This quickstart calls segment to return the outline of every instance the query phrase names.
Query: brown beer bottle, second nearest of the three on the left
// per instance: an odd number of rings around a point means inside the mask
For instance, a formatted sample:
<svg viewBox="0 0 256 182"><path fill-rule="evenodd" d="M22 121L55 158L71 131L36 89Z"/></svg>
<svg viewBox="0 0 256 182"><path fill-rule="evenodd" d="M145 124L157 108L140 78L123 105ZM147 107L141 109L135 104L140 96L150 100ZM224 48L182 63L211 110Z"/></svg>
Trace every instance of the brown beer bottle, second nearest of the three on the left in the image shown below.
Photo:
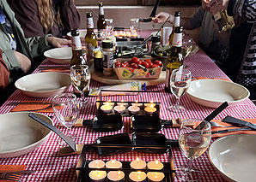
<svg viewBox="0 0 256 182"><path fill-rule="evenodd" d="M94 33L94 20L91 12L86 14L87 17L87 33L85 36L85 46L88 59L93 57L93 50L98 46L97 38Z"/></svg>

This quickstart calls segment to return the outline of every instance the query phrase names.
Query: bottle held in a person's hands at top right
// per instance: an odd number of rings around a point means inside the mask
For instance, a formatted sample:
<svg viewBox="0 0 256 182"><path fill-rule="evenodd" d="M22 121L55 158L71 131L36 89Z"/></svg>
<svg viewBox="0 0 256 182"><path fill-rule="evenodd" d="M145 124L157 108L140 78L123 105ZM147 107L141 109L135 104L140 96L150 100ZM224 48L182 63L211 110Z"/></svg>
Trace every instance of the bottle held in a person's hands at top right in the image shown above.
<svg viewBox="0 0 256 182"><path fill-rule="evenodd" d="M232 16L229 16L227 10L220 10L213 15L214 21L218 26L218 32L230 30L235 26L235 21Z"/></svg>

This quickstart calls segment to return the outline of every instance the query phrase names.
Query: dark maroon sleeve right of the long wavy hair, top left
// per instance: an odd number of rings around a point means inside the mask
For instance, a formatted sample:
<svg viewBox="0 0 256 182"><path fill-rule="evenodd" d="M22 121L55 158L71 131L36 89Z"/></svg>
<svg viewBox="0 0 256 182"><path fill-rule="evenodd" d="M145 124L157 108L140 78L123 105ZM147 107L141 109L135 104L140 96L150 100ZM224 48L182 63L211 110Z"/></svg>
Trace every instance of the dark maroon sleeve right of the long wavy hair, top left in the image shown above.
<svg viewBox="0 0 256 182"><path fill-rule="evenodd" d="M64 35L72 29L80 27L80 14L74 0L60 0L59 14L64 26Z"/></svg>

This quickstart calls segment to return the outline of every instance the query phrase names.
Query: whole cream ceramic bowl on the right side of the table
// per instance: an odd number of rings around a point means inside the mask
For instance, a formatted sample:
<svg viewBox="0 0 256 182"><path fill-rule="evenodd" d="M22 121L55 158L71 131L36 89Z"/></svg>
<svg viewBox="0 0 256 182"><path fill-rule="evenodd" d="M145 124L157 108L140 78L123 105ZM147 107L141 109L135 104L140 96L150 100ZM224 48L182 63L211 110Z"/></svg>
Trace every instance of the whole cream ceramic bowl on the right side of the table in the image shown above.
<svg viewBox="0 0 256 182"><path fill-rule="evenodd" d="M193 102L210 108L217 108L225 101L235 106L250 96L244 86L219 79L194 80L186 93Z"/></svg>

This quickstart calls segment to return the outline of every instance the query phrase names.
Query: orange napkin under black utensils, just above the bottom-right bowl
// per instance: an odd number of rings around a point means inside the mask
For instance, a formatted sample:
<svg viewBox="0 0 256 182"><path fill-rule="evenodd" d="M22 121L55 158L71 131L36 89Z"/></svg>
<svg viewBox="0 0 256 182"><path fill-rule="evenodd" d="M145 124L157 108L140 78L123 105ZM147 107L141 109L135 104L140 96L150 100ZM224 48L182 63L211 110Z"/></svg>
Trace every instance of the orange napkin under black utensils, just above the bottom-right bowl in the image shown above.
<svg viewBox="0 0 256 182"><path fill-rule="evenodd" d="M253 123L253 124L256 124L256 119L241 119L241 120L246 120L250 123ZM216 122L218 123L219 125L221 126L234 126L234 125L231 125L229 123L226 123L226 122L222 122L222 120L211 120L213 122ZM193 126L194 128L196 126L198 126L199 123L195 123L195 125ZM241 126L234 126L234 127L218 127L218 126L213 126L211 127L211 131L221 131L221 130L227 130L227 129L235 129L235 128L240 128ZM256 130L253 131L253 130L244 130L244 131L236 131L236 132L225 132L225 133L216 133L216 134L212 134L211 135L211 138L219 138L219 137L224 137L224 136L227 136L227 135L233 135L233 134L254 134L256 135Z"/></svg>

